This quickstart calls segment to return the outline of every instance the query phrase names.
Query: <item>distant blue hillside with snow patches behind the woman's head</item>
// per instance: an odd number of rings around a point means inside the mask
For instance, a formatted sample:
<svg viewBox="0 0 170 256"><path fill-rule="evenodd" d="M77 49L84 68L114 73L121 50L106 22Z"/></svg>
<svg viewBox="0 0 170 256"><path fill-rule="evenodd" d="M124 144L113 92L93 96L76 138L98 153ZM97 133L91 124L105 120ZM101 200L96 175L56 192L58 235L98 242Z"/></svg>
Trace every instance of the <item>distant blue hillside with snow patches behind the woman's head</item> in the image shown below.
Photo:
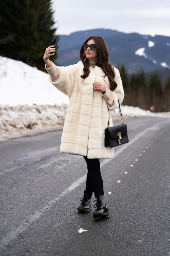
<svg viewBox="0 0 170 256"><path fill-rule="evenodd" d="M110 62L115 66L124 63L129 74L141 68L144 72L170 70L170 36L126 34L111 29L91 29L61 35L57 63L64 66L77 63L79 49L90 35L102 36L108 45Z"/></svg>

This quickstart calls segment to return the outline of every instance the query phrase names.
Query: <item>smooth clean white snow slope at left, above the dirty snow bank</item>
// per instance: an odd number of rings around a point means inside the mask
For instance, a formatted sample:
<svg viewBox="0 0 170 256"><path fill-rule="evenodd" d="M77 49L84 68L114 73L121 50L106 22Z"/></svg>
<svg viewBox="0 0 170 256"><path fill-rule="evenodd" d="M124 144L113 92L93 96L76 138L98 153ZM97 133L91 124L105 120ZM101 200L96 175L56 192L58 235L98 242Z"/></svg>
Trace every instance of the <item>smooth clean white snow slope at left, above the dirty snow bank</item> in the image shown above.
<svg viewBox="0 0 170 256"><path fill-rule="evenodd" d="M48 74L22 61L0 56L0 105L68 102L68 97L49 82Z"/></svg>

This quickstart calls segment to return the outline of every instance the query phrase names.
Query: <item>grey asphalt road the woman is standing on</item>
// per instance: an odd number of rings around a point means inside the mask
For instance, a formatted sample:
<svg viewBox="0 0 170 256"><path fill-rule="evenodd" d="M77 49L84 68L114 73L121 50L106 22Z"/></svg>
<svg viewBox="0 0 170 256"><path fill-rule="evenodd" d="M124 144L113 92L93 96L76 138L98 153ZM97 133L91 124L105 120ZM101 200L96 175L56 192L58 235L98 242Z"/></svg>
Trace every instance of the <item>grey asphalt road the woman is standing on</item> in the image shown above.
<svg viewBox="0 0 170 256"><path fill-rule="evenodd" d="M170 119L125 121L130 142L100 161L102 219L76 210L86 164L61 130L0 143L0 256L170 255Z"/></svg>

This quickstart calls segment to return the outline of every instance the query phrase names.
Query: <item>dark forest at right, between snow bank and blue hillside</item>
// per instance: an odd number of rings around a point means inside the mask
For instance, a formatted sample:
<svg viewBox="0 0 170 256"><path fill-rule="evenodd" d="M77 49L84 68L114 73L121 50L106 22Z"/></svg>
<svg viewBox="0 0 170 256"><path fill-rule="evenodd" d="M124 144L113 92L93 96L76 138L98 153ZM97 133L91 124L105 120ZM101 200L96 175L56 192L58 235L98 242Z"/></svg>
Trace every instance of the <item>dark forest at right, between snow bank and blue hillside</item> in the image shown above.
<svg viewBox="0 0 170 256"><path fill-rule="evenodd" d="M119 71L125 92L124 105L152 112L170 111L170 76L163 87L157 71L150 73L148 81L143 70L128 76L122 64Z"/></svg>

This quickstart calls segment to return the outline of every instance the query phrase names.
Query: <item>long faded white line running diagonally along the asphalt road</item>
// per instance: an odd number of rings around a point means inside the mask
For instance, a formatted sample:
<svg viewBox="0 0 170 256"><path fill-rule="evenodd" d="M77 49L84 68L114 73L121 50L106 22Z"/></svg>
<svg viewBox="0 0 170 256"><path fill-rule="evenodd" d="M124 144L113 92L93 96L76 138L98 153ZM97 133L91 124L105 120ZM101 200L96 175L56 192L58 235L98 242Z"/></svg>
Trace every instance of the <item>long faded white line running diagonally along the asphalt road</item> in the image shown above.
<svg viewBox="0 0 170 256"><path fill-rule="evenodd" d="M122 145L119 147L119 150L117 150L114 154L114 158L117 157L119 154L121 154L126 148L128 148L130 145L132 145L135 141L139 140L140 137L143 137L144 134L150 130L155 130L159 124L156 124L154 126L151 126L147 128L146 130L140 132L137 134L133 139L131 139L128 143ZM104 161L100 164L101 167L103 167L105 164L110 162L112 158L104 159ZM130 165L133 166L133 165ZM47 210L51 209L53 204L55 204L62 196L66 195L73 189L75 189L77 186L82 184L86 180L86 175L83 175L80 177L77 181L75 181L71 186L69 186L67 189L65 189L58 197L51 200L48 204L46 204L40 211L36 211L33 215L31 215L29 218L27 218L20 226L13 228L7 235L1 238L0 240L0 248L3 248L8 245L8 243L17 238L19 234L22 234L30 225L31 223L38 220Z"/></svg>

